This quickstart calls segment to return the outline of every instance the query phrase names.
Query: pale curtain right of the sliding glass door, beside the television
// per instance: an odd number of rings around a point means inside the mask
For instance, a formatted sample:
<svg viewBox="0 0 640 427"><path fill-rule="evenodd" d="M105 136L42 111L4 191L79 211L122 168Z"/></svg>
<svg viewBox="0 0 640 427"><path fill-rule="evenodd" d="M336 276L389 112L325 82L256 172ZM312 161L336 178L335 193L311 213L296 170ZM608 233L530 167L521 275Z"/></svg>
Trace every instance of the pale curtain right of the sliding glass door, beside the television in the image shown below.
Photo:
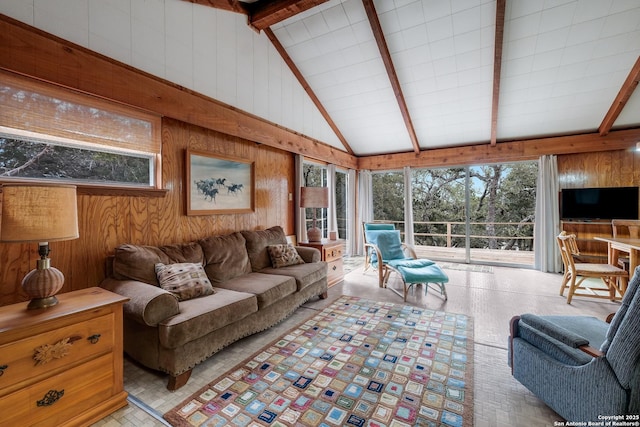
<svg viewBox="0 0 640 427"><path fill-rule="evenodd" d="M558 162L556 156L542 156L538 161L536 220L533 228L534 267L549 273L562 271L556 236L560 233L558 204Z"/></svg>

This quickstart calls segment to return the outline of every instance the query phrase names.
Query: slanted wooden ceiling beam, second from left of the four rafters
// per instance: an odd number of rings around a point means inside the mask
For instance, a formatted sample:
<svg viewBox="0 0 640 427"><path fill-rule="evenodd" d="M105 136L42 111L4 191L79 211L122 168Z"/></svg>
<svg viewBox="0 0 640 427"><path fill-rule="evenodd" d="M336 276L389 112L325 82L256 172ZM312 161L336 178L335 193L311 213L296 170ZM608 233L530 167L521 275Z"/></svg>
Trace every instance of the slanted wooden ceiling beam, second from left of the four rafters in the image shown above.
<svg viewBox="0 0 640 427"><path fill-rule="evenodd" d="M367 12L369 24L371 25L371 30L373 31L373 36L375 37L376 43L378 44L380 56L382 56L382 61L384 62L384 66L387 69L387 74L389 75L389 80L391 81L393 93L395 94L396 100L398 101L398 106L400 107L402 118L404 120L405 126L407 127L409 138L411 138L413 151L419 153L420 144L418 143L418 136L416 135L416 131L413 127L413 122L411 121L411 115L409 114L407 102L405 101L404 95L402 94L400 80L398 80L396 69L393 66L393 61L391 60L391 54L389 53L389 47L387 46L387 41L385 40L384 33L382 32L382 26L380 25L380 20L378 19L378 13L376 12L376 8L373 5L373 0L362 0L362 4L364 5L364 9Z"/></svg>

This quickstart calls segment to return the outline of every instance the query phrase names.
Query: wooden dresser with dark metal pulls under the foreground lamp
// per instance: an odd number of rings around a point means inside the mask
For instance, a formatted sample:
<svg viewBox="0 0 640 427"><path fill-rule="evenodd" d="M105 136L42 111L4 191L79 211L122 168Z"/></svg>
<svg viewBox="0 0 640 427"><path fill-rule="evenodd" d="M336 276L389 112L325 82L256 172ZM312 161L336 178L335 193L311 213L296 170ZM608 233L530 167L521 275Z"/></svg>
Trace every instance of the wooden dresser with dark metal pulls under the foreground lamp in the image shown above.
<svg viewBox="0 0 640 427"><path fill-rule="evenodd" d="M127 405L120 295L88 288L58 305L0 307L0 424L86 426Z"/></svg>

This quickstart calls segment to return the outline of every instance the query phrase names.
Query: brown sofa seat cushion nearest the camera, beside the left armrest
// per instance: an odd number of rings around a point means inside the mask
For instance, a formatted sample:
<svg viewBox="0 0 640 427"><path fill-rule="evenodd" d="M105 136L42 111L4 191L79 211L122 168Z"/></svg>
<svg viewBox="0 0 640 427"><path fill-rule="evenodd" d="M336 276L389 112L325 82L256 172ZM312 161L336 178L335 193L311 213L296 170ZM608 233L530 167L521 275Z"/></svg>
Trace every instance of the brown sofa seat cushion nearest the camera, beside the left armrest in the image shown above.
<svg viewBox="0 0 640 427"><path fill-rule="evenodd" d="M254 294L214 288L215 294L180 302L180 313L160 322L166 348L178 348L258 311Z"/></svg>

